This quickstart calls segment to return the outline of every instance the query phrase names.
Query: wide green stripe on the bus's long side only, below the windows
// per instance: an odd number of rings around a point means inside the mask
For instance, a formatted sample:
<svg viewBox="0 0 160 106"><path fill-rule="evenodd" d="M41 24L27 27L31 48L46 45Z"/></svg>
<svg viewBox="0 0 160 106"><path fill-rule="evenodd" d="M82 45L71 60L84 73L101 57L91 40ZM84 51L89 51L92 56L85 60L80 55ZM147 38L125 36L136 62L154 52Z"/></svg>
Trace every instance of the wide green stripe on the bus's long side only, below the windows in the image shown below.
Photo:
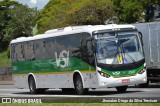
<svg viewBox="0 0 160 106"><path fill-rule="evenodd" d="M60 63L63 65L63 62ZM69 58L68 66L57 66L56 59L32 60L13 62L13 74L46 73L46 72L73 72L75 70L95 72L95 68L81 59Z"/></svg>

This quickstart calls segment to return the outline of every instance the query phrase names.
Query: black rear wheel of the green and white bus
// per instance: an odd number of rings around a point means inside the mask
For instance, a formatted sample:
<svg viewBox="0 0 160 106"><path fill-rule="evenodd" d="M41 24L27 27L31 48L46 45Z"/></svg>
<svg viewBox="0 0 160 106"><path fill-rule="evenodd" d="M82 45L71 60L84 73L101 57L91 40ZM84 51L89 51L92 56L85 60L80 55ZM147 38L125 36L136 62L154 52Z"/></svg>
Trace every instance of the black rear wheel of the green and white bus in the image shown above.
<svg viewBox="0 0 160 106"><path fill-rule="evenodd" d="M30 93L37 94L36 83L33 76L29 77L28 84L29 84Z"/></svg>

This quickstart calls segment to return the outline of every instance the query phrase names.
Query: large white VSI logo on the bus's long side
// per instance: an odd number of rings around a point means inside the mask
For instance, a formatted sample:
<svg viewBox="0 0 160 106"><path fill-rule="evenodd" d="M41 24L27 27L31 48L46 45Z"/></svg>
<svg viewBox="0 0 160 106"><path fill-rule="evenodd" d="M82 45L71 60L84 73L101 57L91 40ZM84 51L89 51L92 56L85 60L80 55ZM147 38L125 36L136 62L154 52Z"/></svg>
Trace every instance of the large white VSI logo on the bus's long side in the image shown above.
<svg viewBox="0 0 160 106"><path fill-rule="evenodd" d="M59 57L57 52L55 52L57 67L65 68L68 66L69 62L69 51L63 50L60 52Z"/></svg>

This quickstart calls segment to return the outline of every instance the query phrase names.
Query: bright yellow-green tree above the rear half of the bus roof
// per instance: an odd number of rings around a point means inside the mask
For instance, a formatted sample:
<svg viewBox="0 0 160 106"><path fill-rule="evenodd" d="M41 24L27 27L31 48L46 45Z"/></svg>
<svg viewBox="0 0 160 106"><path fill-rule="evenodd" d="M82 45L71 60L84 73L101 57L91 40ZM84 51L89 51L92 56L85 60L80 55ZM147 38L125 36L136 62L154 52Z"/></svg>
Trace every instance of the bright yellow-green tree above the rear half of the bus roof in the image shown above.
<svg viewBox="0 0 160 106"><path fill-rule="evenodd" d="M48 29L66 26L64 20L66 11L74 0L50 0L45 8L38 13L38 32L44 33Z"/></svg>

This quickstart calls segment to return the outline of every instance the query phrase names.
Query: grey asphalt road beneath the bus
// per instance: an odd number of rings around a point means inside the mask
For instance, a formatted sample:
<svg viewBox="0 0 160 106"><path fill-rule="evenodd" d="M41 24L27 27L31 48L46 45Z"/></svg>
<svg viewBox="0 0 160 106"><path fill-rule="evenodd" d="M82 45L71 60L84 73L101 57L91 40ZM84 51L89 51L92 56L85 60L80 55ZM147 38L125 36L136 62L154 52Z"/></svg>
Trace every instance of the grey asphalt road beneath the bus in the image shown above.
<svg viewBox="0 0 160 106"><path fill-rule="evenodd" d="M121 98L160 98L160 84L151 84L148 88L130 86L125 93L115 88L90 89L86 95L63 94L60 89L49 89L44 94L31 95L29 89L17 89L14 85L0 85L0 97L121 97Z"/></svg>

